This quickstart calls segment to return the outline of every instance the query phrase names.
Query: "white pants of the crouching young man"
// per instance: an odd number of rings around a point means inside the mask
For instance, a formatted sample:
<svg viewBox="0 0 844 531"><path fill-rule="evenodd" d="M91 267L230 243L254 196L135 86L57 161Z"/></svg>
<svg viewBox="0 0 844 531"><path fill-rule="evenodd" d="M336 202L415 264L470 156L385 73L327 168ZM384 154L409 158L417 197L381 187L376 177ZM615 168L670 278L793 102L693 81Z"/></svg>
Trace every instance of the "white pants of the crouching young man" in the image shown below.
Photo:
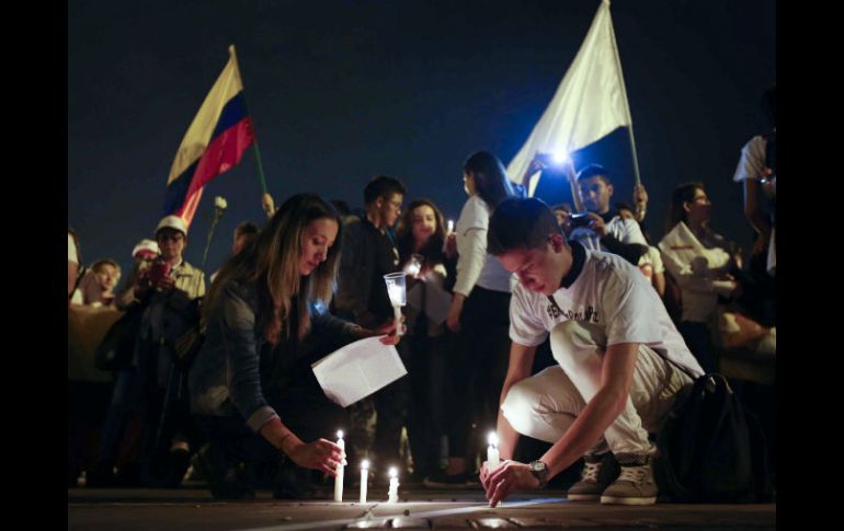
<svg viewBox="0 0 844 531"><path fill-rule="evenodd" d="M567 321L551 331L550 338L559 366L513 385L501 411L520 434L554 443L601 388L606 336L594 325ZM588 453L655 453L648 434L659 430L677 393L689 385L688 374L640 345L625 409Z"/></svg>

